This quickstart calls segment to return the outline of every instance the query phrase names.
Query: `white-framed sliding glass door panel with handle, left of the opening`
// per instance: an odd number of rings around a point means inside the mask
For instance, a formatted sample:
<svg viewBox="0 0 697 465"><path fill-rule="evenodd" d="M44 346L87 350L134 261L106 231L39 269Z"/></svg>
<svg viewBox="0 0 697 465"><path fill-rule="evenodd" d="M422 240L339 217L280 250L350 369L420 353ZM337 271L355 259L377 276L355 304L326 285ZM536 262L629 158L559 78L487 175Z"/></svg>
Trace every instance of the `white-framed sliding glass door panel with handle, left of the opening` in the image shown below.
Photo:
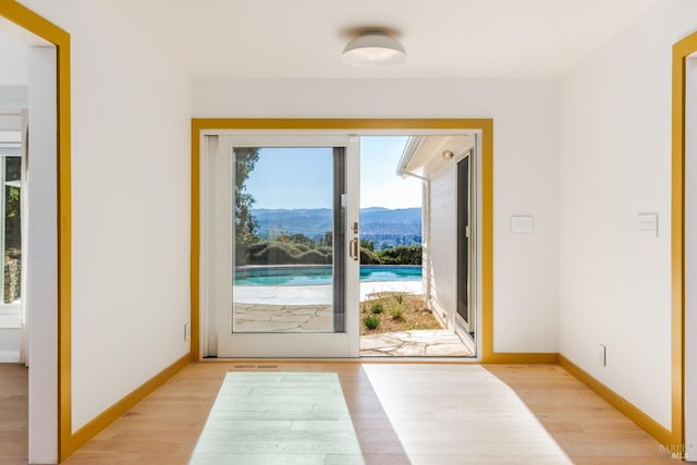
<svg viewBox="0 0 697 465"><path fill-rule="evenodd" d="M357 150L346 136L209 137L209 355L358 356Z"/></svg>

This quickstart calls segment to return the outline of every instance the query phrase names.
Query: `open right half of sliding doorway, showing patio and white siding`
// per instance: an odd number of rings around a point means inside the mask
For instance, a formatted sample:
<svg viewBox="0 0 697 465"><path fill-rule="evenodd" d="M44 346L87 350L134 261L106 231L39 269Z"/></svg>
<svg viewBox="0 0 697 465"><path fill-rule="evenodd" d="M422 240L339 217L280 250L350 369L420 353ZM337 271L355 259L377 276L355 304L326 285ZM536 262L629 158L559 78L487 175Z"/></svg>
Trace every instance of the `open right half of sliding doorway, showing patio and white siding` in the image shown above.
<svg viewBox="0 0 697 465"><path fill-rule="evenodd" d="M438 280L431 257L440 248L435 243L452 241L442 236L460 234L455 220L440 212L470 211L469 199L461 198L458 187L467 180L460 174L452 176L455 164L433 164L441 157L433 151L436 145L454 140L457 138L445 136L360 137L362 277L376 274L372 282L362 279L360 284L362 356L475 354L474 331L465 343L463 331L455 325L458 308L452 304L458 301L461 291L468 292L468 268L461 267L460 261L463 257L467 260L470 254L451 254L450 269L456 272L451 271L449 278L440 269L445 264L439 262ZM452 148L463 149L454 145ZM453 192L456 195L449 196ZM438 204L436 208L433 201ZM432 234L436 236L430 237ZM460 254L464 247L457 246L458 238L455 244ZM376 268L378 271L374 272ZM461 284L463 276L465 282ZM456 279L457 286L451 286L445 279ZM453 291L456 296L449 295Z"/></svg>

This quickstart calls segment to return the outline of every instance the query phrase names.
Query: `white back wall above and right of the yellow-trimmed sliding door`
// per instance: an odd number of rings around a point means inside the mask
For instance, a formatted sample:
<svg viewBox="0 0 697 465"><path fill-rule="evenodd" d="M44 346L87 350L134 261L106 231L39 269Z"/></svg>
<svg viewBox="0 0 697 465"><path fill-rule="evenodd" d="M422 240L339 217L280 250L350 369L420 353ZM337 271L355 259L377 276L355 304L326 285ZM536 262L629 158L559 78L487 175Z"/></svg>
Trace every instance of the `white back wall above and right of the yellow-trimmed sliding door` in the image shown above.
<svg viewBox="0 0 697 465"><path fill-rule="evenodd" d="M494 350L557 352L555 81L196 78L193 93L200 118L493 118ZM508 231L521 211L526 241Z"/></svg>

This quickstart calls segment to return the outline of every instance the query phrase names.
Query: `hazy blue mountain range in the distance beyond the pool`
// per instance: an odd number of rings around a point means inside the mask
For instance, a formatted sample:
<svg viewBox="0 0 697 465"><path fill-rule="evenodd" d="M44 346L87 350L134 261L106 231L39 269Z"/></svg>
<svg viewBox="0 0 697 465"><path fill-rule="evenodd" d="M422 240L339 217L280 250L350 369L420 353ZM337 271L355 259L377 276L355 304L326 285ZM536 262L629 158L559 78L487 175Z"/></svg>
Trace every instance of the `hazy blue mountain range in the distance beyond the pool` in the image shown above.
<svg viewBox="0 0 697 465"><path fill-rule="evenodd" d="M331 231L331 210L316 209L252 209L257 234L262 237L284 232L321 237ZM381 207L360 209L360 238L372 241L376 249L395 245L421 243L421 209Z"/></svg>

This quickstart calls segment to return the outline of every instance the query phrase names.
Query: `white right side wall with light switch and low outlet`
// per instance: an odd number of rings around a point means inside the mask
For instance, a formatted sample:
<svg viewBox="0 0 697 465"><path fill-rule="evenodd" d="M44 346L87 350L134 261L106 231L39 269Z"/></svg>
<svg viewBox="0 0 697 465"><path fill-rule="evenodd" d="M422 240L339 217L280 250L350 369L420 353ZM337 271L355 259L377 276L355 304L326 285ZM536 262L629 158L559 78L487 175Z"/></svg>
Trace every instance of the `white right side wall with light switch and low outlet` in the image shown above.
<svg viewBox="0 0 697 465"><path fill-rule="evenodd" d="M697 2L661 0L561 89L561 353L667 428L671 47L695 28ZM658 213L658 237L637 233L643 211Z"/></svg>

